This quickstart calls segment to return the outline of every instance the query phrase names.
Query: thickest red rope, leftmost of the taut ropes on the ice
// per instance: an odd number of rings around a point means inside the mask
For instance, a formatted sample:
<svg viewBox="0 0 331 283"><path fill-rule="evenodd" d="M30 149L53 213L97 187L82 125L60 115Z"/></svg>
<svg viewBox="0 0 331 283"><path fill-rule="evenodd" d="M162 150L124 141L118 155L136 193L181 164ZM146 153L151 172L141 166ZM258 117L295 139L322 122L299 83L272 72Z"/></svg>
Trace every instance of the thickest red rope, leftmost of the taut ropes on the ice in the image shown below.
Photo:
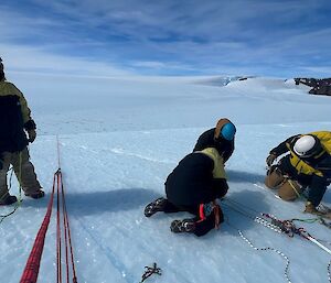
<svg viewBox="0 0 331 283"><path fill-rule="evenodd" d="M35 283L38 279L41 257L44 249L45 236L47 232L51 215L52 215L52 207L53 207L53 198L54 198L54 189L55 189L55 175L53 181L53 189L51 199L47 206L47 213L44 217L44 220L40 227L40 230L35 237L34 244L32 247L31 253L25 264L25 269L23 271L22 277L20 283Z"/></svg>

